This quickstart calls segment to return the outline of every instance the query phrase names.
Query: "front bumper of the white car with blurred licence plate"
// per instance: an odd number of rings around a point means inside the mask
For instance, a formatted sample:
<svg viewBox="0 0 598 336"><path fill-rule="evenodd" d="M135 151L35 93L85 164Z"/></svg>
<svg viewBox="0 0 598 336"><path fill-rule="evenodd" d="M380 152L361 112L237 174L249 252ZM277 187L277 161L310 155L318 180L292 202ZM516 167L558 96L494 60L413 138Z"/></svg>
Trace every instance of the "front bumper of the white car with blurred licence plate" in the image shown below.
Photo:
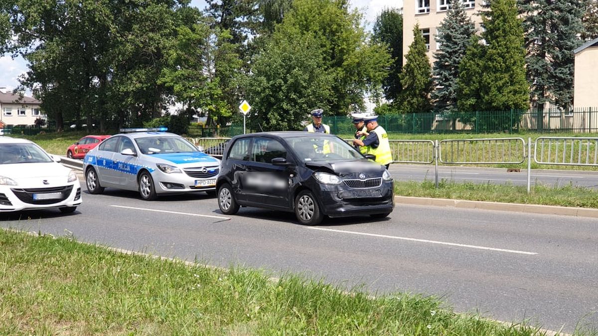
<svg viewBox="0 0 598 336"><path fill-rule="evenodd" d="M0 186L0 212L56 209L79 206L81 203L81 185L78 181L47 188Z"/></svg>

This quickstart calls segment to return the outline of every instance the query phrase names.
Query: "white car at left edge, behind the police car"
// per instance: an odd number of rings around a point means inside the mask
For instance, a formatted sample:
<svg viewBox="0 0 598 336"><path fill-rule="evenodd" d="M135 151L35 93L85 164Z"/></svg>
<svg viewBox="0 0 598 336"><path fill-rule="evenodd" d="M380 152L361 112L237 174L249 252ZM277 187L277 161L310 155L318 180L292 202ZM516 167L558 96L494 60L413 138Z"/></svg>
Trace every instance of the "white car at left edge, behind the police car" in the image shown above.
<svg viewBox="0 0 598 336"><path fill-rule="evenodd" d="M0 136L0 212L74 212L81 205L81 185L75 171L59 161L29 140Z"/></svg>

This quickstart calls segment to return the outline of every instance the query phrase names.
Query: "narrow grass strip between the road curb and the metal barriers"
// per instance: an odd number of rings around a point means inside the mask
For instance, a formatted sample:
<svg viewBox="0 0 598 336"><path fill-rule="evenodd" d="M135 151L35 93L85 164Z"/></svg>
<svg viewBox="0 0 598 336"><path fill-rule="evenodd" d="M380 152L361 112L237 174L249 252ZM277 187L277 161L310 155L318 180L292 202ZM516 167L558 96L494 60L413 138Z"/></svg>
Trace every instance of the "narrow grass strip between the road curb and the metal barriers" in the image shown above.
<svg viewBox="0 0 598 336"><path fill-rule="evenodd" d="M450 198L455 200L495 201L504 203L542 204L554 206L588 207L598 209L596 190L575 185L532 185L457 183L442 179L435 188L434 181L395 181L395 195L410 197Z"/></svg>

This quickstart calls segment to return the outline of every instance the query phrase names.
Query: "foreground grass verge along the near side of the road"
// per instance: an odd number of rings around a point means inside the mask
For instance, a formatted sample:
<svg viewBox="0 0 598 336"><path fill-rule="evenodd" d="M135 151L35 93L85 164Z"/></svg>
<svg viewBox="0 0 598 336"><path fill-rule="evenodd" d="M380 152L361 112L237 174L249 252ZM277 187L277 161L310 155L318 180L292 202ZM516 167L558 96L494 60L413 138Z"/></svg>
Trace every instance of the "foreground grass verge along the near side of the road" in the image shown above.
<svg viewBox="0 0 598 336"><path fill-rule="evenodd" d="M434 297L372 298L322 280L270 276L0 230L0 334L545 334L457 314Z"/></svg>

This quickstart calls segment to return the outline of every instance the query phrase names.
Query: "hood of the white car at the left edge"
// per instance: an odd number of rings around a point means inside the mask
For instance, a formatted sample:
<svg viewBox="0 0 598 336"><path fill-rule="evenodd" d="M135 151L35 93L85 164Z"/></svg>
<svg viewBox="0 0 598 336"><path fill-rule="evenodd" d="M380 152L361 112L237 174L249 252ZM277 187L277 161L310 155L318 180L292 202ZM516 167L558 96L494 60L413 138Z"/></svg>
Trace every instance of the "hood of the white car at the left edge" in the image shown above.
<svg viewBox="0 0 598 336"><path fill-rule="evenodd" d="M13 179L21 188L50 188L68 184L71 169L56 162L0 165L0 176ZM47 184L44 184L43 181Z"/></svg>

